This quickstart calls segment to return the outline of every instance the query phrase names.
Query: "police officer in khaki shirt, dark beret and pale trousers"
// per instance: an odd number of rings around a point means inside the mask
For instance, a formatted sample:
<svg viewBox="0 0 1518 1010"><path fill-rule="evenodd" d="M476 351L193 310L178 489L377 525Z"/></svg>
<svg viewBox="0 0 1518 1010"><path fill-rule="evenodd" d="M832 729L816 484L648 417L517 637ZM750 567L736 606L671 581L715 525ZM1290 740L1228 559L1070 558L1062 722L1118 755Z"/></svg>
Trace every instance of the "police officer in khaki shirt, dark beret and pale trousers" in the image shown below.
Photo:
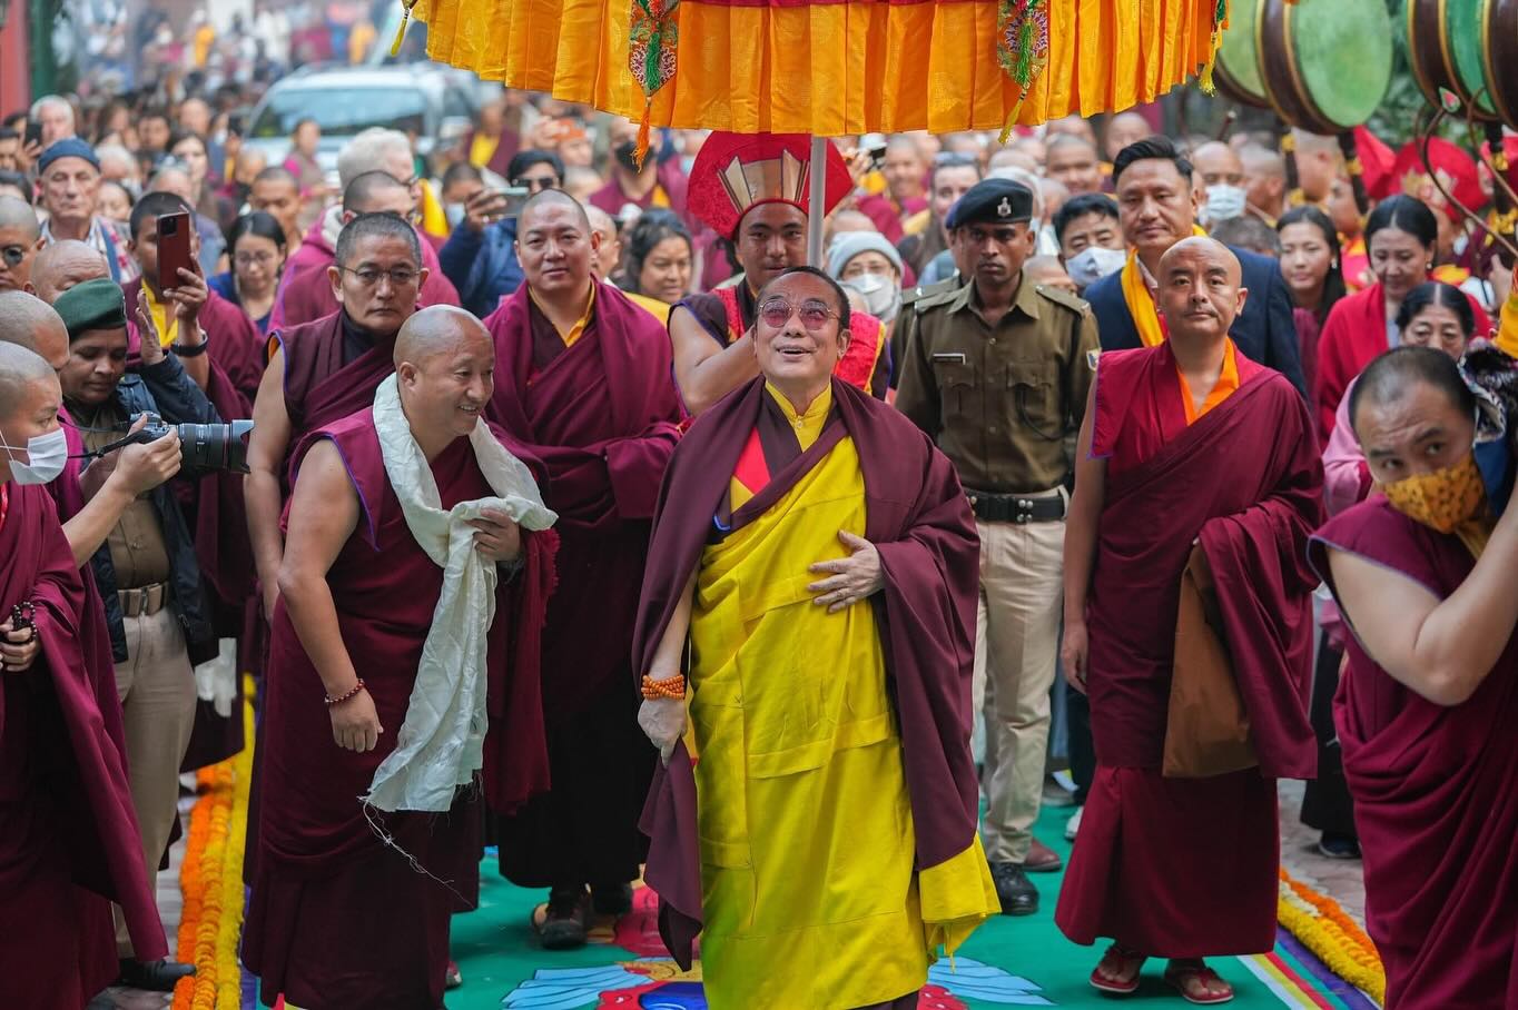
<svg viewBox="0 0 1518 1010"><path fill-rule="evenodd" d="M903 312L896 406L959 470L981 534L976 702L990 688L982 837L1006 914L1038 910L1025 870L1060 869L1032 837L1043 795L1060 645L1067 437L1096 376L1085 302L1023 276L1032 193L987 179L949 215L968 282Z"/></svg>

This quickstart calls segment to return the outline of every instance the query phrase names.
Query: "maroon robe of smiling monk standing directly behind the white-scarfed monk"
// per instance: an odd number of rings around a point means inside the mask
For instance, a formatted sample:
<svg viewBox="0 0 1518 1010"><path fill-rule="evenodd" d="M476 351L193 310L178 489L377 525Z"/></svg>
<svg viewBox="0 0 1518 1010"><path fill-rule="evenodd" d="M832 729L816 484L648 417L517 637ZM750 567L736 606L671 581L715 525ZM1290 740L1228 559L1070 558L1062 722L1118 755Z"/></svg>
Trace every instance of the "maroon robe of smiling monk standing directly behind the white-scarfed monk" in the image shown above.
<svg viewBox="0 0 1518 1010"><path fill-rule="evenodd" d="M527 285L486 326L496 355L492 420L542 460L543 499L559 513L543 702L548 717L560 722L604 698L627 669L648 523L680 417L669 335L606 284L571 347L533 305Z"/></svg>

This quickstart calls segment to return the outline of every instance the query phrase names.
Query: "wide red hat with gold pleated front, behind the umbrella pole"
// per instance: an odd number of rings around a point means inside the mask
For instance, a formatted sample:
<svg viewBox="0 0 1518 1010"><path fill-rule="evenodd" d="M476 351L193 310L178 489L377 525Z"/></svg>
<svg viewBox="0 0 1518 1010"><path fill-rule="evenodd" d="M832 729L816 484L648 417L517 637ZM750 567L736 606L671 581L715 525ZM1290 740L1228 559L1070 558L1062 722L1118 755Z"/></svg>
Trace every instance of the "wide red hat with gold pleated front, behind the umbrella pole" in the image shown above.
<svg viewBox="0 0 1518 1010"><path fill-rule="evenodd" d="M789 203L808 211L812 193L812 138L808 133L726 133L706 138L695 164L686 206L723 238L732 240L744 214L761 203ZM849 165L827 143L826 209L853 188Z"/></svg>

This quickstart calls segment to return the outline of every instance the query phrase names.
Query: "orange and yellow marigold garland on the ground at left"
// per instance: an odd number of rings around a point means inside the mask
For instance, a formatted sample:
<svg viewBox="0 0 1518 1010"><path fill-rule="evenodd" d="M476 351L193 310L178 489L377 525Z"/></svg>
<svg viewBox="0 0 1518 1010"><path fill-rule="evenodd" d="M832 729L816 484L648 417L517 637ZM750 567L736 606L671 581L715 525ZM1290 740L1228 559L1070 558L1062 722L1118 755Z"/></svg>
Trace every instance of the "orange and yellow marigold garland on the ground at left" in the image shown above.
<svg viewBox="0 0 1518 1010"><path fill-rule="evenodd" d="M252 698L254 687L244 695ZM175 989L173 1010L235 1010L241 1005L237 945L243 933L243 848L247 792L254 772L254 708L243 707L241 754L200 769L200 798L190 811L185 858L179 869L184 910L176 957L196 974Z"/></svg>

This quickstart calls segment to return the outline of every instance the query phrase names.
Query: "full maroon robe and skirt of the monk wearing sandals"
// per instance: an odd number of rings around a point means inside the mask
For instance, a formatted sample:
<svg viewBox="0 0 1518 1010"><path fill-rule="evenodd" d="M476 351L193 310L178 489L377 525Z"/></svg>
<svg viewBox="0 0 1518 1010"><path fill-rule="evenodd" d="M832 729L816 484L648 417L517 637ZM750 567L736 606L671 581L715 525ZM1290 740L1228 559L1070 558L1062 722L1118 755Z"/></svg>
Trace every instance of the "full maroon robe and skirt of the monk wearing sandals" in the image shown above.
<svg viewBox="0 0 1518 1010"><path fill-rule="evenodd" d="M1108 460L1087 601L1098 773L1055 922L1151 957L1271 949L1275 778L1312 778L1307 535L1321 516L1312 417L1237 355L1239 388L1192 425L1170 346L1098 362L1091 453ZM1249 714L1257 769L1160 773L1181 572L1199 543Z"/></svg>

